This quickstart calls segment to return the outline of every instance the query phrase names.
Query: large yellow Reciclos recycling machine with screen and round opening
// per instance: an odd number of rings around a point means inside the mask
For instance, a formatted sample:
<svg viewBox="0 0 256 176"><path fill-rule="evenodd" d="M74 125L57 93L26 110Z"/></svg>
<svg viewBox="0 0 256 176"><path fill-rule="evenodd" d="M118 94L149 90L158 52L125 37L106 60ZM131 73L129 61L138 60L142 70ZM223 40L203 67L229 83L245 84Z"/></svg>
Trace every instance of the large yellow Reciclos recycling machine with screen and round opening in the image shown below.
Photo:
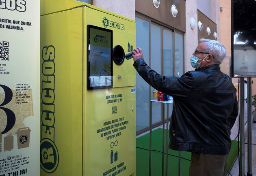
<svg viewBox="0 0 256 176"><path fill-rule="evenodd" d="M136 175L133 46L135 21L41 0L41 176Z"/></svg>

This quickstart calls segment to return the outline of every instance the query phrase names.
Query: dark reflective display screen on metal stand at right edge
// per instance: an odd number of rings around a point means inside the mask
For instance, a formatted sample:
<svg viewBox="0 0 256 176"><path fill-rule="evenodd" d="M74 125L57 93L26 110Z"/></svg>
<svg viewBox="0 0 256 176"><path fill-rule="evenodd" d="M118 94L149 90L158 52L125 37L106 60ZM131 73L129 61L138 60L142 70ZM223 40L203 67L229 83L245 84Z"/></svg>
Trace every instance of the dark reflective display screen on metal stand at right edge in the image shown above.
<svg viewBox="0 0 256 176"><path fill-rule="evenodd" d="M232 1L232 77L256 77L256 0Z"/></svg>

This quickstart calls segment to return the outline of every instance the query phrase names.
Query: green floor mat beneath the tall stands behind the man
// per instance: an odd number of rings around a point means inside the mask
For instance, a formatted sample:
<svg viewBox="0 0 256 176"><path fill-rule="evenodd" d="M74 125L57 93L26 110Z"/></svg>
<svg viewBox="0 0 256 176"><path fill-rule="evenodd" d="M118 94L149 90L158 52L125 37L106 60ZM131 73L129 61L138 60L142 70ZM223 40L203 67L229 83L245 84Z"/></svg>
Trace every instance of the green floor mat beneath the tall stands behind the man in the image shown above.
<svg viewBox="0 0 256 176"><path fill-rule="evenodd" d="M152 131L152 166L151 175L162 175L162 139L163 129L158 128ZM137 176L148 176L149 172L149 137L145 134L137 138ZM166 137L165 137L166 138ZM142 149L143 148L143 149ZM159 152L160 151L160 152ZM228 158L228 170L230 170L238 152L237 141L232 140L230 155ZM174 156L173 156L174 155ZM191 159L190 152L181 152L180 175L189 175L189 165ZM165 162L165 161L164 161ZM165 164L164 164L165 165ZM165 175L165 168L164 168ZM178 176L178 151L168 150L168 176Z"/></svg>

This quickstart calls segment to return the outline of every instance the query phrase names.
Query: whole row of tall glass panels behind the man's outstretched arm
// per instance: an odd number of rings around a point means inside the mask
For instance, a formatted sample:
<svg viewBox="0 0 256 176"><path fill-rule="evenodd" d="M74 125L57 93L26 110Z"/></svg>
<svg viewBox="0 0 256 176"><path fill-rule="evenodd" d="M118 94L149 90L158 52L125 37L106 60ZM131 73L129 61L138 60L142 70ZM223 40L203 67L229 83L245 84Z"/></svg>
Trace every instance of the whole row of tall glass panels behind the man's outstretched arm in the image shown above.
<svg viewBox="0 0 256 176"><path fill-rule="evenodd" d="M184 73L184 37L163 25L152 22L147 17L136 17L136 47L143 49L145 62L156 72L165 76L181 76ZM136 48L133 47L133 48ZM174 52L175 51L175 52ZM149 129L150 100L154 88L150 87L136 73L136 127L137 134ZM153 126L163 123L161 104L152 104ZM169 118L173 110L169 106ZM166 114L165 114L166 119Z"/></svg>

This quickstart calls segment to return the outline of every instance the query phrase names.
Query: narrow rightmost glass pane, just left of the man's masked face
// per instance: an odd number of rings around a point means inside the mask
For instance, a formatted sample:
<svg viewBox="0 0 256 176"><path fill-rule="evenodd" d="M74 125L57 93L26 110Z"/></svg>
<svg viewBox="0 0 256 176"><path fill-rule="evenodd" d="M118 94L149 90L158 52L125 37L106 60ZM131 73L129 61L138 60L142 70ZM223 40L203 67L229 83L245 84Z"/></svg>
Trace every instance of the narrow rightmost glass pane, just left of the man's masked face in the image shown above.
<svg viewBox="0 0 256 176"><path fill-rule="evenodd" d="M175 76L184 74L183 35L175 33Z"/></svg>

